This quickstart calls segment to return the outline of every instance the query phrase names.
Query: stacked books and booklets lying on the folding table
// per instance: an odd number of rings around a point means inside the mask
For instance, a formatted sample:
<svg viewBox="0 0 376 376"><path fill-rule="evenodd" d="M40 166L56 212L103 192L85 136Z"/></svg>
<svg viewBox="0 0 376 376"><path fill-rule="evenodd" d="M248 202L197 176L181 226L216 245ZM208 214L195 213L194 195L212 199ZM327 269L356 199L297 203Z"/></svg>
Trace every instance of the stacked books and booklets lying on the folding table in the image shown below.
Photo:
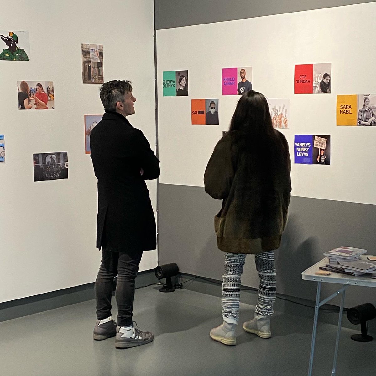
<svg viewBox="0 0 376 376"><path fill-rule="evenodd" d="M361 276L362 274L376 272L376 262L359 260L361 254L367 250L353 247L340 247L324 253L329 258L329 263L320 269L337 273Z"/></svg>

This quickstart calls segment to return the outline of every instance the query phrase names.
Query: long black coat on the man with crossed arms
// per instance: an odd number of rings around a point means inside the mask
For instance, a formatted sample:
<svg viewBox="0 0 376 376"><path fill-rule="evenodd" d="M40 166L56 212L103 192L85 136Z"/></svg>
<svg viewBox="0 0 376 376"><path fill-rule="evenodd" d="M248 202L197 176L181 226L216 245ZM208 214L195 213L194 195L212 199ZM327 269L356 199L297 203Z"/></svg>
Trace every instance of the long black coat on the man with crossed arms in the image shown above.
<svg viewBox="0 0 376 376"><path fill-rule="evenodd" d="M98 179L97 248L156 249L155 217L145 180L159 177L159 160L143 132L123 115L106 111L91 131L90 149Z"/></svg>

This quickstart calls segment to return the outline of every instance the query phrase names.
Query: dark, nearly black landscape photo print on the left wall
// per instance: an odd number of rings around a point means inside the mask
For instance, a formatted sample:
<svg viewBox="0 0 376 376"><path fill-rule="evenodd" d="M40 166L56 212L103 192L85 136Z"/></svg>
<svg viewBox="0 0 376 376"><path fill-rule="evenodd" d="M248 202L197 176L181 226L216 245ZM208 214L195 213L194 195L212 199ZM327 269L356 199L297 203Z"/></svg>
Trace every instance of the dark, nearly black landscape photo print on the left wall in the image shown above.
<svg viewBox="0 0 376 376"><path fill-rule="evenodd" d="M33 154L34 181L68 179L68 152Z"/></svg>

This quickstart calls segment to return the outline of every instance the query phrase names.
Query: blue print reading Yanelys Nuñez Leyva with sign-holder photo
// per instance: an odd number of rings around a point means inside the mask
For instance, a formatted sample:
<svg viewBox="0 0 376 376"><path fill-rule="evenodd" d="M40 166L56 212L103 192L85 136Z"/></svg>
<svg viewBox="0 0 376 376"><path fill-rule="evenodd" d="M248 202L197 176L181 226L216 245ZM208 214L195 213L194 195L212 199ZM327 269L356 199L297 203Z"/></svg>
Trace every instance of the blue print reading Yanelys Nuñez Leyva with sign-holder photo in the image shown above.
<svg viewBox="0 0 376 376"><path fill-rule="evenodd" d="M330 135L296 134L294 163L330 164Z"/></svg>

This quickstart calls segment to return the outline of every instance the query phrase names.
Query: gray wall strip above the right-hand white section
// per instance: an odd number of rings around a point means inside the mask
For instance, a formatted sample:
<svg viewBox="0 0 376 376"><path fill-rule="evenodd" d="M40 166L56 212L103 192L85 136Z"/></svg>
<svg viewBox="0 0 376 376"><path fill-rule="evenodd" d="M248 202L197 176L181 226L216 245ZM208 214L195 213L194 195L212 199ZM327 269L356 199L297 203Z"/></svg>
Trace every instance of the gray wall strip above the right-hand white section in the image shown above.
<svg viewBox="0 0 376 376"><path fill-rule="evenodd" d="M155 0L155 29L241 20L361 3L364 0Z"/></svg>

